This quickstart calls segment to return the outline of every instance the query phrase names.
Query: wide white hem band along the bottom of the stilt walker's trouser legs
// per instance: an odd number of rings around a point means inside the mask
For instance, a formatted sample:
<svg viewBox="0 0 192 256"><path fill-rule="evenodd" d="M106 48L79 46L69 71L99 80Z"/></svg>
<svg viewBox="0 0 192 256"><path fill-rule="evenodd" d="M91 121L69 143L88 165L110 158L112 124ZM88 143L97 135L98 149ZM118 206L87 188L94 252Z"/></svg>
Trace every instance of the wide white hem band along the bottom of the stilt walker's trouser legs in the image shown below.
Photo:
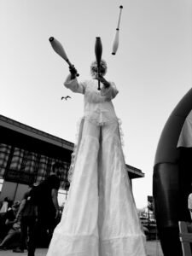
<svg viewBox="0 0 192 256"><path fill-rule="evenodd" d="M99 245L100 243L100 245ZM100 247L100 248L99 248ZM63 254L63 252L65 252ZM116 237L114 239L102 240L96 236L66 236L62 233L54 233L50 242L47 256L52 255L135 255L146 256L146 239L143 235ZM125 253L126 252L126 253Z"/></svg>

